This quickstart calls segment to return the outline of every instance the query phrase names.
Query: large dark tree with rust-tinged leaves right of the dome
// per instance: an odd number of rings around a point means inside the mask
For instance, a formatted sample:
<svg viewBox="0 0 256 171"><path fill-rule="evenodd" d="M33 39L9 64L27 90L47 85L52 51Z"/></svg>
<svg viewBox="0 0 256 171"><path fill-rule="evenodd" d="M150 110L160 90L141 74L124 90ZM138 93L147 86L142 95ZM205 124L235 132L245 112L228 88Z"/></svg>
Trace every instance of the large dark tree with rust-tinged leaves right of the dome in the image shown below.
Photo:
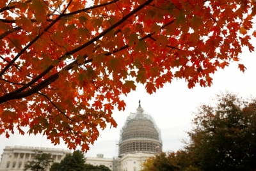
<svg viewBox="0 0 256 171"><path fill-rule="evenodd" d="M148 158L141 171L256 170L256 100L220 94L215 105L201 105L177 152Z"/></svg>

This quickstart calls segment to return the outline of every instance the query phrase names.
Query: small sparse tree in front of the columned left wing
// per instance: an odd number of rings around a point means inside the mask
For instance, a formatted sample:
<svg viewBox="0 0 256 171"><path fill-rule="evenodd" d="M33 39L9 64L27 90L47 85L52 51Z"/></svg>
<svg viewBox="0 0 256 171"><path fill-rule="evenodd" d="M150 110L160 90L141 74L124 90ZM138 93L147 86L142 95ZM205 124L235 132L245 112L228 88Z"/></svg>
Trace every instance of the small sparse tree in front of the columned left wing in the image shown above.
<svg viewBox="0 0 256 171"><path fill-rule="evenodd" d="M24 167L24 170L46 171L50 167L52 161L51 154L35 151L35 159L28 161L28 165Z"/></svg>

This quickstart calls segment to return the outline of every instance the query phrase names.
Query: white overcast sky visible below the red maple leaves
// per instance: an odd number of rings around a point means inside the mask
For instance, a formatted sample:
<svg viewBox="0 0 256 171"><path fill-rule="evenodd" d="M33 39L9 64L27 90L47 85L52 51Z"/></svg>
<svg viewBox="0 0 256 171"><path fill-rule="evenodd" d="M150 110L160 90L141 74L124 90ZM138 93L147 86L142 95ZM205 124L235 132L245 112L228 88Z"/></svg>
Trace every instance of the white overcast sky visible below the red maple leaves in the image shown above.
<svg viewBox="0 0 256 171"><path fill-rule="evenodd" d="M254 41L256 44L256 41ZM113 117L118 124L117 128L106 128L100 132L100 137L91 145L86 156L95 157L96 154L104 154L106 158L117 155L120 129L124 126L125 119L130 112L135 112L138 108L138 101L141 100L141 107L152 115L157 126L161 130L163 139L163 151L177 151L182 148L182 139L186 139L186 131L191 130L192 112L200 103L209 103L215 94L225 91L238 93L241 96L256 97L256 53L250 53L248 48L243 48L242 59L247 70L243 73L237 69L236 63L231 63L225 70L218 70L214 75L211 87L200 87L196 85L193 89L188 89L184 80L173 80L171 84L166 84L162 89L154 94L147 94L143 85L138 85L136 91L132 91L128 96L122 97L126 102L125 111L114 110ZM46 137L10 135L5 138L0 135L0 154L5 146L34 146L34 147L54 147L67 149L67 145L52 145Z"/></svg>

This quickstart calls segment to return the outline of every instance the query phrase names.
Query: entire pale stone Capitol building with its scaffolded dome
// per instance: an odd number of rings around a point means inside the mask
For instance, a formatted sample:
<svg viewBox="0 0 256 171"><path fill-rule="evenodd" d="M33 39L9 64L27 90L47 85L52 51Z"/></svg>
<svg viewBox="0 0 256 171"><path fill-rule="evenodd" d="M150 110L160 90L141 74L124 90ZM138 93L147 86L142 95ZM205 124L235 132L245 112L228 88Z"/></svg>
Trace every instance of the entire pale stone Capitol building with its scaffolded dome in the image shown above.
<svg viewBox="0 0 256 171"><path fill-rule="evenodd" d="M86 163L105 165L112 171L139 171L148 157L162 150L161 131L154 119L144 113L140 101L136 113L127 117L120 130L118 156L104 158L104 154L86 157ZM5 147L1 155L0 171L22 171L28 161L33 160L35 150L52 154L54 162L60 162L71 151L43 147Z"/></svg>

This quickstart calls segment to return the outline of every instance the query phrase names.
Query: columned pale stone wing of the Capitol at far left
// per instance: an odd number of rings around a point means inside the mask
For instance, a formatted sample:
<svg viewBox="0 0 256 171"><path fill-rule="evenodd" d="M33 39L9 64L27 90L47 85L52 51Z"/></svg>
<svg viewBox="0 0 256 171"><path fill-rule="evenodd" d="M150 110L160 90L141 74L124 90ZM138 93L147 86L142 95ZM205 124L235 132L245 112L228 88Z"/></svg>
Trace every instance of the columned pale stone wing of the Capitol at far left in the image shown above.
<svg viewBox="0 0 256 171"><path fill-rule="evenodd" d="M71 151L64 149L14 146L4 148L1 155L0 171L23 171L28 161L33 160L35 151L51 153L54 162L60 162Z"/></svg>

